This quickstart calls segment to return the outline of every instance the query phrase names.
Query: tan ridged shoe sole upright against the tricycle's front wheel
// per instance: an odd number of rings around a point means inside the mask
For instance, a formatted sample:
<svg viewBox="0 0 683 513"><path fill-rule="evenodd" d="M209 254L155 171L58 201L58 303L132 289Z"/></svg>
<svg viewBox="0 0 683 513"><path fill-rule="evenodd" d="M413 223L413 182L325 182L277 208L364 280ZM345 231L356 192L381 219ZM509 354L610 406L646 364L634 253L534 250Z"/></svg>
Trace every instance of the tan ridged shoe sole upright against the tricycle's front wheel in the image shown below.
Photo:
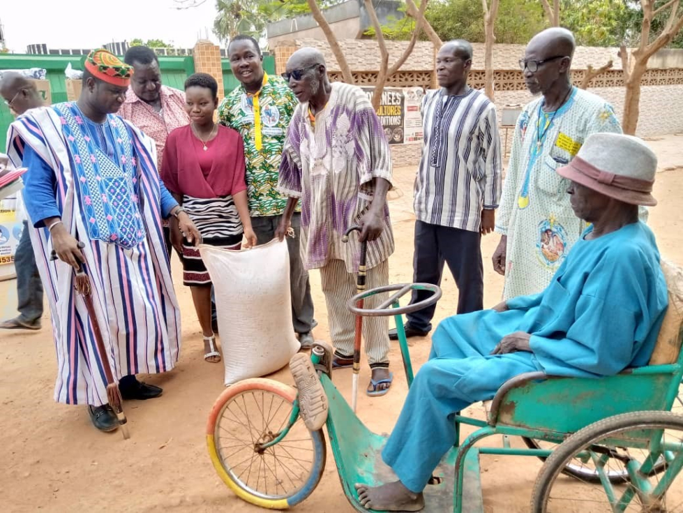
<svg viewBox="0 0 683 513"><path fill-rule="evenodd" d="M297 352L290 359L290 371L299 389L299 409L303 424L306 424L309 431L317 431L327 422L329 405L313 362L305 353Z"/></svg>

